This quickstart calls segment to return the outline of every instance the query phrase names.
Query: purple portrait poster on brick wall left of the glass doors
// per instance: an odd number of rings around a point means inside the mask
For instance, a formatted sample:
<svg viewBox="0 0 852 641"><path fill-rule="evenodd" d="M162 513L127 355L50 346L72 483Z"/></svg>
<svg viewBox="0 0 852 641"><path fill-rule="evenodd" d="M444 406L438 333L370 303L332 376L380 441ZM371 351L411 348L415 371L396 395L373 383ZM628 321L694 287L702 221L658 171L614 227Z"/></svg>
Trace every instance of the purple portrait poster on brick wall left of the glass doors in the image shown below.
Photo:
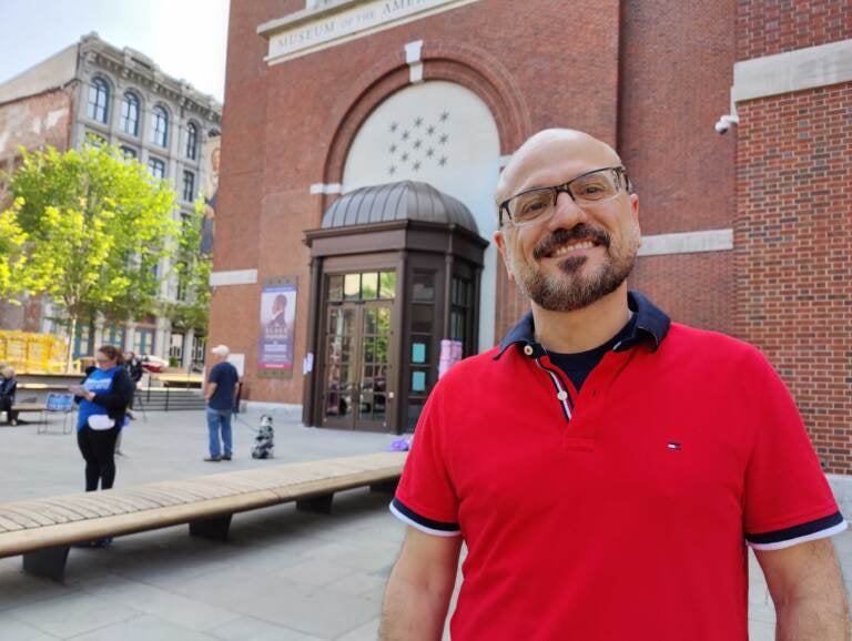
<svg viewBox="0 0 852 641"><path fill-rule="evenodd" d="M257 372L261 376L293 376L297 291L295 278L274 278L263 283L257 342Z"/></svg>

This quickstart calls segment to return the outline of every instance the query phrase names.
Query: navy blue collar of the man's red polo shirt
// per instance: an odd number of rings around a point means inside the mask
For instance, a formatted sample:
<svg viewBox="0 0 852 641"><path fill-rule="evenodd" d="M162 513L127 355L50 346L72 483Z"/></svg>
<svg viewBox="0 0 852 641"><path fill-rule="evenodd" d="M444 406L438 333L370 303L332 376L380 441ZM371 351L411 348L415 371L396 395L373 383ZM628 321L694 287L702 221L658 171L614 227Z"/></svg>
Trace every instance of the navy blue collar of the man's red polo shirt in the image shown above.
<svg viewBox="0 0 852 641"><path fill-rule="evenodd" d="M651 352L656 352L669 333L671 319L639 292L628 292L627 305L636 314L636 326L633 333L616 344L612 349L615 352L623 352L640 343L647 343ZM494 357L495 360L503 356L503 353L509 348L509 345L518 345L519 348L524 349L524 354L535 358L546 354L545 348L536 343L532 312L524 314L518 324L500 340L500 349Z"/></svg>

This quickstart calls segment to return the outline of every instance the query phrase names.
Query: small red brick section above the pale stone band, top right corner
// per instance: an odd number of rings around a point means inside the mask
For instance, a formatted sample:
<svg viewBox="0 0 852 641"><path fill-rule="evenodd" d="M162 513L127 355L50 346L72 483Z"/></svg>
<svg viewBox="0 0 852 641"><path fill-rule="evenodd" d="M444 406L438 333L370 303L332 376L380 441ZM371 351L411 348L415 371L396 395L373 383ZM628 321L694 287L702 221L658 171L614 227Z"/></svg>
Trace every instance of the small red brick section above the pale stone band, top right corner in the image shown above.
<svg viewBox="0 0 852 641"><path fill-rule="evenodd" d="M737 60L783 53L850 37L849 0L739 0Z"/></svg>

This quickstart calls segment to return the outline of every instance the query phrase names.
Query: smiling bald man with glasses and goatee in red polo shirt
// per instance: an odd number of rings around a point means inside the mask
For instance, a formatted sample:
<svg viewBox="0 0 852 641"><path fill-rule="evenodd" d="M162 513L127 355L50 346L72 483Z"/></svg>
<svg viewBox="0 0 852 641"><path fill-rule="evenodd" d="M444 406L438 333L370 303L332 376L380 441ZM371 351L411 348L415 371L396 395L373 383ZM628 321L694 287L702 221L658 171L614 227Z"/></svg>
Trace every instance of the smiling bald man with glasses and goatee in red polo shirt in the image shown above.
<svg viewBox="0 0 852 641"><path fill-rule="evenodd" d="M548 130L511 157L494 240L531 311L444 376L390 506L408 525L383 641L746 641L747 546L779 640L845 641L845 521L753 347L626 278L639 199L618 154Z"/></svg>

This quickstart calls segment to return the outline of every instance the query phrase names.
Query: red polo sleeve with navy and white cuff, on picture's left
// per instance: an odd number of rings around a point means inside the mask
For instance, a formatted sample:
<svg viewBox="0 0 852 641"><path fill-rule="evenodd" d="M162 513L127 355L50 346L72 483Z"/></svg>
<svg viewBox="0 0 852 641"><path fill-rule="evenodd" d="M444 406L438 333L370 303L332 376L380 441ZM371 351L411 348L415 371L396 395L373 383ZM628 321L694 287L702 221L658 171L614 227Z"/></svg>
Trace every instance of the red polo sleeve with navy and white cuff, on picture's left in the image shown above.
<svg viewBox="0 0 852 641"><path fill-rule="evenodd" d="M432 391L423 409L390 511L428 535L455 537L462 533L458 499L446 465L447 426L440 417L439 396L440 386Z"/></svg>

